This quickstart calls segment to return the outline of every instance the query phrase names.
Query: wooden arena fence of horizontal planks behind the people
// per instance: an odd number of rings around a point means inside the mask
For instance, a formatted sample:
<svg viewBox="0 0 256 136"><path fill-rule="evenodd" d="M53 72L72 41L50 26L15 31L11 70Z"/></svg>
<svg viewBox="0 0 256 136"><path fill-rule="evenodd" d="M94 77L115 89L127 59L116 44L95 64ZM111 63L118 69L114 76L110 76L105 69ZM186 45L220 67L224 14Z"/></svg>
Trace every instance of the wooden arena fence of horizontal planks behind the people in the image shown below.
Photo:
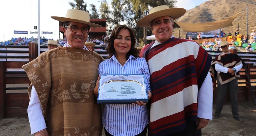
<svg viewBox="0 0 256 136"><path fill-rule="evenodd" d="M26 50L22 50L21 48L26 48ZM95 46L95 51L102 55L103 58L107 58L108 55L104 49L105 47ZM45 50L47 50L47 48L41 46L40 52L42 53ZM28 46L0 46L0 118L27 116L29 96L26 90L30 84L30 81L21 66L28 63L29 59L37 57L36 55L29 55L29 52L30 51ZM214 58L221 52L209 51L208 53L211 54ZM238 52L238 55L240 55L240 57L246 62L243 68L240 70L241 78L238 80L238 101L253 102L254 99L252 94L256 93L256 53L248 54ZM247 70L248 74L246 74L245 70ZM252 89L249 84L248 76L250 78ZM212 81L214 87L213 97L215 103L217 82L213 76ZM20 93L17 91L11 92L11 90L25 91ZM253 90L253 92L251 90ZM228 95L226 96L226 101L229 101Z"/></svg>

